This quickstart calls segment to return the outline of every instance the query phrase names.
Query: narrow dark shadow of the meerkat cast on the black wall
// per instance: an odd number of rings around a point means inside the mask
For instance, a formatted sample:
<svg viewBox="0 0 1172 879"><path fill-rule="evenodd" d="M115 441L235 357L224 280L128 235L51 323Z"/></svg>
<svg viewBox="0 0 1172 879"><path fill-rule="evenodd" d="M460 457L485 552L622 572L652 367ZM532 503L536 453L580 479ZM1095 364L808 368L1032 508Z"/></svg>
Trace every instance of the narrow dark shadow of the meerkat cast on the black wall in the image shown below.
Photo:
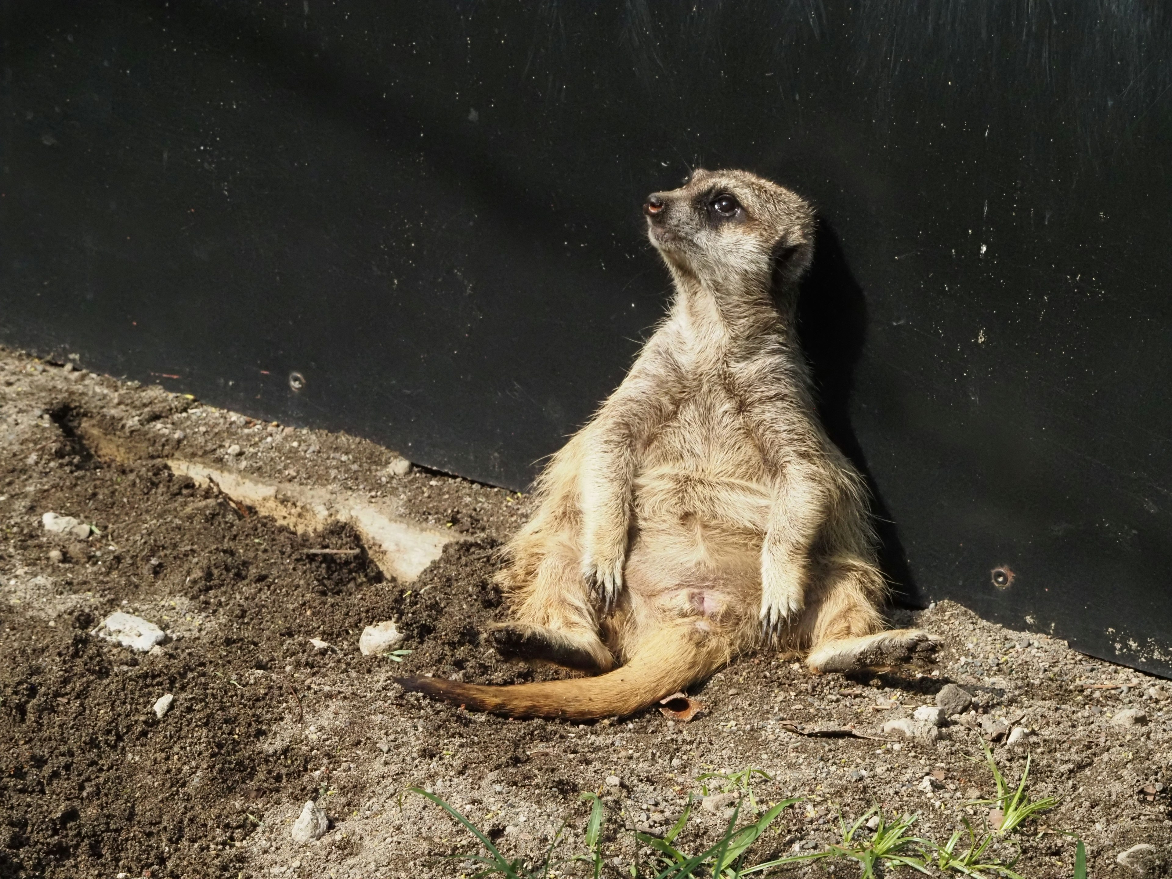
<svg viewBox="0 0 1172 879"><path fill-rule="evenodd" d="M818 411L830 438L866 479L880 541L879 561L894 587L894 600L922 607L926 601L912 578L899 529L892 522L851 427L851 390L866 329L867 304L863 288L846 265L838 234L819 218L813 264L798 298L798 334L813 372Z"/></svg>

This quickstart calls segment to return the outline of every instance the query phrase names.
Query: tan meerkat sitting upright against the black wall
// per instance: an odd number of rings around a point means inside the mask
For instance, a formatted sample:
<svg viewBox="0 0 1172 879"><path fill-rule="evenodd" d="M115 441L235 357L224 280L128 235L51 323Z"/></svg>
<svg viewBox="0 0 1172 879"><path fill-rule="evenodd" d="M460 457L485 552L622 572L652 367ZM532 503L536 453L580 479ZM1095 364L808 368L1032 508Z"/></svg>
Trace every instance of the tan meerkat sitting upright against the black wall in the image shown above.
<svg viewBox="0 0 1172 879"><path fill-rule="evenodd" d="M619 388L538 477L498 575L507 659L585 672L485 687L401 679L513 717L628 715L761 646L813 672L931 650L884 631L867 491L823 430L798 345L815 211L745 171L695 171L643 205L674 284Z"/></svg>

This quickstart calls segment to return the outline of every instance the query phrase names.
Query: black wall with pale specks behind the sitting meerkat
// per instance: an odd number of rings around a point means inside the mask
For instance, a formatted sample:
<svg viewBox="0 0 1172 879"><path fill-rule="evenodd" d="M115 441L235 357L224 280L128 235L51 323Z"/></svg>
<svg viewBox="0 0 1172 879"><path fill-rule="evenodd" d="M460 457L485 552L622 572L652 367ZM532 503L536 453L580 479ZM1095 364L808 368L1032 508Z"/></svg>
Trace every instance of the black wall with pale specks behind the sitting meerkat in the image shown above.
<svg viewBox="0 0 1172 879"><path fill-rule="evenodd" d="M1161 9L2 0L0 341L520 486L662 312L643 196L744 166L909 597L1167 673Z"/></svg>

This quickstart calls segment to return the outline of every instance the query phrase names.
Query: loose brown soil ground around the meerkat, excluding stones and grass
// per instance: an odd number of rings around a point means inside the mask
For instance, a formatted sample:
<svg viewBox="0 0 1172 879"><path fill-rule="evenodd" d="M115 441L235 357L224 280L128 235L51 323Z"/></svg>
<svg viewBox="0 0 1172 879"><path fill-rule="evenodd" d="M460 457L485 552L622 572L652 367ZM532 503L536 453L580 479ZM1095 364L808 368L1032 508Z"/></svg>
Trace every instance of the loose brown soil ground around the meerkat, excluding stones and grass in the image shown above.
<svg viewBox="0 0 1172 879"><path fill-rule="evenodd" d="M258 478L367 493L397 515L462 539L414 582L387 577L356 532L298 534L172 473L169 458ZM1160 681L1082 656L1057 639L1011 632L954 604L893 611L945 642L927 668L811 676L792 657L748 656L693 695L706 710L676 723L659 710L592 724L510 721L403 694L403 673L511 683L559 673L502 662L481 643L507 608L495 550L529 500L415 469L354 437L252 421L162 388L143 388L0 349L0 875L452 877L475 872L470 837L424 786L511 856L584 851L601 793L606 874L629 877L689 796L721 789L706 772L762 769L758 800L805 797L755 850L758 859L836 840L841 813L874 805L919 816L946 840L987 826L993 792L980 735L936 742L819 738L786 728L884 722L932 703L947 682L976 700L974 721L1031 730L994 745L1016 779L1057 808L997 843L1024 877L1069 879L1074 843L1091 874L1138 875L1116 856L1150 843L1172 852L1172 702ZM45 512L93 525L87 540L42 526ZM352 556L307 550L357 550ZM134 653L91 632L114 611L156 622L168 641ZM411 653L362 656L363 627L395 620ZM329 646L318 648L309 639ZM173 694L162 718L152 706ZM1111 717L1143 709L1150 722ZM607 785L615 776L619 785ZM924 781L925 777L929 781ZM289 829L307 799L331 830L306 846ZM724 815L696 809L680 837L699 849ZM564 827L564 829L563 829ZM455 856L449 857L449 856ZM856 875L820 861L783 875ZM559 875L586 875L566 865ZM1161 874L1159 871L1152 875Z"/></svg>

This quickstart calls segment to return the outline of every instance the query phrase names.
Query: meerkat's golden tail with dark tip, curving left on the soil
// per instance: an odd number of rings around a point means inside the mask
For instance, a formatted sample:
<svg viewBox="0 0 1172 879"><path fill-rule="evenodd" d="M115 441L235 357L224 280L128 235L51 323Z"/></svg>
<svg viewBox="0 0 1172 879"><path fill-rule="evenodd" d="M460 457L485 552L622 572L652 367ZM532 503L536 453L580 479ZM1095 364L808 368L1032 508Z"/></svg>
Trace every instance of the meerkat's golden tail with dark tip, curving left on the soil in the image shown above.
<svg viewBox="0 0 1172 879"><path fill-rule="evenodd" d="M629 661L597 677L484 687L440 677L397 677L404 690L425 693L507 717L587 721L634 714L710 675L729 660L724 639L690 626L668 626L647 638Z"/></svg>

